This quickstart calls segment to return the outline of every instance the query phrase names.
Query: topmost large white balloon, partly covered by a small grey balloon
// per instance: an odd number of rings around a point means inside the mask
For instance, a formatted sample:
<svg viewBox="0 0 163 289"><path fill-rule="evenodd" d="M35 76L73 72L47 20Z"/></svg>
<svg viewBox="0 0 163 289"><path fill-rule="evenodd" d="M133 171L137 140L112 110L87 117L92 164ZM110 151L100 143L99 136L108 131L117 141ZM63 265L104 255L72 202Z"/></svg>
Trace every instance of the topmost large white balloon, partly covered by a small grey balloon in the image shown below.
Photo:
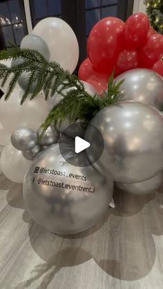
<svg viewBox="0 0 163 289"><path fill-rule="evenodd" d="M50 50L50 60L57 61L62 68L73 72L79 59L77 37L68 23L57 17L45 18L33 29Z"/></svg>

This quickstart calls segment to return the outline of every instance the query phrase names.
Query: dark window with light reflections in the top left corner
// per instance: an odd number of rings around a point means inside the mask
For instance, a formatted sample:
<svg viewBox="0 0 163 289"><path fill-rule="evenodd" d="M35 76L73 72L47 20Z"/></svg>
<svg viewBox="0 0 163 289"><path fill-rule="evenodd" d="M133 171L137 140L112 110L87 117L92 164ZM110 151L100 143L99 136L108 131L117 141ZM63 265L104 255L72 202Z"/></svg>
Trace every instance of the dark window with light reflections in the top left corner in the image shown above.
<svg viewBox="0 0 163 289"><path fill-rule="evenodd" d="M9 48L10 42L20 45L27 34L23 1L0 1L1 47Z"/></svg>

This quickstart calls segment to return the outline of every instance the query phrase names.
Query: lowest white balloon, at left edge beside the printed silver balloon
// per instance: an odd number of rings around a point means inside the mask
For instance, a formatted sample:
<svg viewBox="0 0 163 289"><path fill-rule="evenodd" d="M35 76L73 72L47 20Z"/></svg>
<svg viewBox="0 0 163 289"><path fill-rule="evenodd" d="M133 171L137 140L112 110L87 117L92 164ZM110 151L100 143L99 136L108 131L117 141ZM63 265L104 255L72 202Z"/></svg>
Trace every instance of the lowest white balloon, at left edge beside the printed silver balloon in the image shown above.
<svg viewBox="0 0 163 289"><path fill-rule="evenodd" d="M23 183L23 178L32 161L23 157L22 152L8 143L1 153L1 170L3 174L15 183Z"/></svg>

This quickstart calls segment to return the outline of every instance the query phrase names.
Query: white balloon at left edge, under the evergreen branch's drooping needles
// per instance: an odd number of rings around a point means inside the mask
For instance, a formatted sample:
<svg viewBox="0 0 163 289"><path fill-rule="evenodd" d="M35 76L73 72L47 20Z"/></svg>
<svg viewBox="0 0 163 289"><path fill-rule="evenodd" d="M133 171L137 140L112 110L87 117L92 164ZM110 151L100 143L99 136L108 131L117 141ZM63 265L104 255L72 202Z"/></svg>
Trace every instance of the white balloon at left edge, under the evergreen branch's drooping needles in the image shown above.
<svg viewBox="0 0 163 289"><path fill-rule="evenodd" d="M8 101L0 100L1 123L10 132L18 128L32 128L37 131L48 115L48 104L39 94L30 101L30 96L21 106L23 90L15 89Z"/></svg>

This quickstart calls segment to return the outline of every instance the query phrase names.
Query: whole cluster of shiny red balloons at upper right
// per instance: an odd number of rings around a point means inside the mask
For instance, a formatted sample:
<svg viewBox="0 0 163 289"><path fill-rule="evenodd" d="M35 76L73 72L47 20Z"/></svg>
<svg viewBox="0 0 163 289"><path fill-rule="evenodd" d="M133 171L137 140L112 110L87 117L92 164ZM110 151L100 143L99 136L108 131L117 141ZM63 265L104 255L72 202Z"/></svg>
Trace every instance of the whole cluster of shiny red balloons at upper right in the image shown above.
<svg viewBox="0 0 163 289"><path fill-rule="evenodd" d="M88 37L88 58L81 63L78 77L106 90L108 78L133 68L149 68L163 76L163 35L150 27L146 14L133 14L124 23L115 17L100 20Z"/></svg>

